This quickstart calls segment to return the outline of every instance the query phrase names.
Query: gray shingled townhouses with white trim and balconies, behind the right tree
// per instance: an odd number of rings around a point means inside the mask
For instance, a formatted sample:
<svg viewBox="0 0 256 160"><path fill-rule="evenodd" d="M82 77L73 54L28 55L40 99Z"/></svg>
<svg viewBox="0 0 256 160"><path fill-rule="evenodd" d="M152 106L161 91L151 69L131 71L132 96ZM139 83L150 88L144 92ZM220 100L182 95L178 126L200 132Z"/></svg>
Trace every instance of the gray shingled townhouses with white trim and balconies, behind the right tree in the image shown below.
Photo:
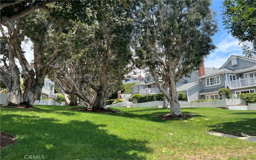
<svg viewBox="0 0 256 160"><path fill-rule="evenodd" d="M233 94L255 93L256 58L232 55L221 68L202 65L190 77L182 77L176 87L177 92L184 92L188 96L188 101L219 99L220 88L229 88ZM154 78L147 74L142 82L131 86L131 93L155 94L159 90Z"/></svg>

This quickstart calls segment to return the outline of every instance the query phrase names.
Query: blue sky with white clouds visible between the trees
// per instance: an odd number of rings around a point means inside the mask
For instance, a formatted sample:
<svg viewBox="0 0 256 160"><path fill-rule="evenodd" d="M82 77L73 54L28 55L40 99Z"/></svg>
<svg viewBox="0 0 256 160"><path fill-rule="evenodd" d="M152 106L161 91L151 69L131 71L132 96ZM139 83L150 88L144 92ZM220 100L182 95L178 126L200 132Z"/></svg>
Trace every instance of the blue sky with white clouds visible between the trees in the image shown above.
<svg viewBox="0 0 256 160"><path fill-rule="evenodd" d="M233 38L224 30L221 19L221 8L222 1L212 1L212 9L217 11L217 20L220 31L213 36L213 42L217 45L218 49L213 51L207 59L205 59L205 67L220 68L228 59L230 55L243 55L241 46L238 45L238 40ZM26 51L26 58L28 61L33 60L33 51L31 51L31 42L24 46ZM19 65L19 64L18 64ZM142 73L143 74L143 73ZM143 74L144 75L144 74Z"/></svg>

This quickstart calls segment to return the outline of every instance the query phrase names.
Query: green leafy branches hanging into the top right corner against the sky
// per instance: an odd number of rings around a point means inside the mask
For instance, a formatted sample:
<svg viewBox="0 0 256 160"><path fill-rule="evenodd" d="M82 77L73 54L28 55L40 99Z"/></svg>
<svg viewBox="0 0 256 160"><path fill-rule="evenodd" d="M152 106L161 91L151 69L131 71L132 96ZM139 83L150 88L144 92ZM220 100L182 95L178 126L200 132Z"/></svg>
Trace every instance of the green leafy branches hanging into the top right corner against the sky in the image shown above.
<svg viewBox="0 0 256 160"><path fill-rule="evenodd" d="M246 56L256 56L256 1L223 1L222 19L228 33L243 43ZM252 47L246 43L252 43Z"/></svg>

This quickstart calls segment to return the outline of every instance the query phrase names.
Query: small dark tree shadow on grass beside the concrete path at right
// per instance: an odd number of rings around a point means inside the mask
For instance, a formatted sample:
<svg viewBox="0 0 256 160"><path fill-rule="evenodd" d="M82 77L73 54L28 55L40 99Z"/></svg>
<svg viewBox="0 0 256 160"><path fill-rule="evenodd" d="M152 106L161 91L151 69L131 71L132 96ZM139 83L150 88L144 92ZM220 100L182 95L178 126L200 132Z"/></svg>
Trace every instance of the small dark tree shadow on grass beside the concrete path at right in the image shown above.
<svg viewBox="0 0 256 160"><path fill-rule="evenodd" d="M210 125L210 131L241 136L241 133L256 136L256 118L239 118L236 122Z"/></svg>

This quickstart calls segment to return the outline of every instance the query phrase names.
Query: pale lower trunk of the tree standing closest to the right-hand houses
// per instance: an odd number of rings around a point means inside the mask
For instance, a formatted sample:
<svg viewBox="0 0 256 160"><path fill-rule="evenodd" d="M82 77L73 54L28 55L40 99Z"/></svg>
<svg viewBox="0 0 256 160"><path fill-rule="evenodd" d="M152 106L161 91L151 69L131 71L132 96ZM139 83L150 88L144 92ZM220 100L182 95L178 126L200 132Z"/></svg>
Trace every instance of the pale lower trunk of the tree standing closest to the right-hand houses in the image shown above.
<svg viewBox="0 0 256 160"><path fill-rule="evenodd" d="M171 107L171 116L180 116L180 103L178 99L177 89L176 89L176 82L175 82L175 75L174 71L170 72L170 95L172 97L172 101L170 102Z"/></svg>

